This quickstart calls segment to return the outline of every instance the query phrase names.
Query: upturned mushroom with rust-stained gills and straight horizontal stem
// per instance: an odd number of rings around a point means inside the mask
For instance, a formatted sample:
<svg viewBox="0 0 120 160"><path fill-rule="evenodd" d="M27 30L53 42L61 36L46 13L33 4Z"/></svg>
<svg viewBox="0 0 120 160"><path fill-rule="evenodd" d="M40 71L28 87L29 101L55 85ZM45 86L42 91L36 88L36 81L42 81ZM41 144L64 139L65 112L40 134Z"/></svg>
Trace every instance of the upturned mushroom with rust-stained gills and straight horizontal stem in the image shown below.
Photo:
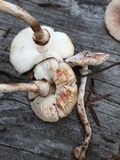
<svg viewBox="0 0 120 160"><path fill-rule="evenodd" d="M55 122L70 114L77 101L72 68L66 62L48 58L35 66L34 76L37 80L29 84L1 84L0 92L29 92L32 110L43 121Z"/></svg>

